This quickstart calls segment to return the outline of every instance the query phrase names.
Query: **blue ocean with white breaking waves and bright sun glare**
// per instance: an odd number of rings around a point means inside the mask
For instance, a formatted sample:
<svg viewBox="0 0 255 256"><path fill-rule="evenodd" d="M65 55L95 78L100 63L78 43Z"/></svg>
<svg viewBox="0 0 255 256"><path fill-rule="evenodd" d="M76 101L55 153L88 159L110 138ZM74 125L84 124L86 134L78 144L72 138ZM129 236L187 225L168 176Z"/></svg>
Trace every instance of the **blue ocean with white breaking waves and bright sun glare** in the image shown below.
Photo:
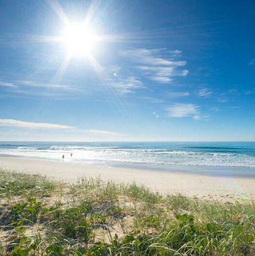
<svg viewBox="0 0 255 256"><path fill-rule="evenodd" d="M0 142L0 156L62 161L63 154L70 163L255 176L255 142Z"/></svg>

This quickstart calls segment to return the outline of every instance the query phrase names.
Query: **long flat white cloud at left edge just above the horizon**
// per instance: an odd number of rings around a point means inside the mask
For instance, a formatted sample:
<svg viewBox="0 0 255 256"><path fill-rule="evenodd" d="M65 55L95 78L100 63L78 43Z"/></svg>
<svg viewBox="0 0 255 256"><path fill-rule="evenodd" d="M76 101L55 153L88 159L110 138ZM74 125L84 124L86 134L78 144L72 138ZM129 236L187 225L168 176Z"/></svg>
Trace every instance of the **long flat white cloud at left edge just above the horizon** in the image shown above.
<svg viewBox="0 0 255 256"><path fill-rule="evenodd" d="M55 123L25 122L14 119L0 119L0 126L21 128L75 129L73 126L57 125Z"/></svg>

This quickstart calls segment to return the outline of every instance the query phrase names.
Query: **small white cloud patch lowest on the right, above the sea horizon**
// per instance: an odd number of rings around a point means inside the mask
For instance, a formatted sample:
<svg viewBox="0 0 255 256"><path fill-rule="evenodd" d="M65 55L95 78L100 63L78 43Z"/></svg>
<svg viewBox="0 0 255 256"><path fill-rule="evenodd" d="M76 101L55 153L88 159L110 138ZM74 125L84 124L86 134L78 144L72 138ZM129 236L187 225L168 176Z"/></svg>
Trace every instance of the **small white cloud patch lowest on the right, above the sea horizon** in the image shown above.
<svg viewBox="0 0 255 256"><path fill-rule="evenodd" d="M166 111L169 117L198 117L200 115L199 106L191 103L174 103L168 106Z"/></svg>

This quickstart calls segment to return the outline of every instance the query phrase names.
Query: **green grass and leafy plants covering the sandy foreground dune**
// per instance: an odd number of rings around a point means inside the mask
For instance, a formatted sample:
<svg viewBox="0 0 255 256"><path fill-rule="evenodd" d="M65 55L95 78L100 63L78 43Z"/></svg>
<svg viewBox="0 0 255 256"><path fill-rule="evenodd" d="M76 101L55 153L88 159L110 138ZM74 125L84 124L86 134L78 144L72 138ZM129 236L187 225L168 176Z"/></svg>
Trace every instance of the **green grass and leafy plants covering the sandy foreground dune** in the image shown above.
<svg viewBox="0 0 255 256"><path fill-rule="evenodd" d="M0 255L255 255L255 203L0 172Z"/></svg>

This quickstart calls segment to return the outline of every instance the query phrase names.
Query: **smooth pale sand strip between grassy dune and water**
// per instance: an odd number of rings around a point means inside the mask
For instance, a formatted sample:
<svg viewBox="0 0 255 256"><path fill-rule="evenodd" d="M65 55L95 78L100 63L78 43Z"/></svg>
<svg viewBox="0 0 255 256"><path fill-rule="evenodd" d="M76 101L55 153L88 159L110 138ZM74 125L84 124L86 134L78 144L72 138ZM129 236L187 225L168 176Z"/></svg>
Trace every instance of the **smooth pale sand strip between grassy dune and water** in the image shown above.
<svg viewBox="0 0 255 256"><path fill-rule="evenodd" d="M0 169L40 174L63 181L76 181L80 177L113 180L120 183L135 182L163 194L181 193L200 199L222 202L254 200L254 178L236 178L187 174L140 168L94 166L46 159L0 157Z"/></svg>

